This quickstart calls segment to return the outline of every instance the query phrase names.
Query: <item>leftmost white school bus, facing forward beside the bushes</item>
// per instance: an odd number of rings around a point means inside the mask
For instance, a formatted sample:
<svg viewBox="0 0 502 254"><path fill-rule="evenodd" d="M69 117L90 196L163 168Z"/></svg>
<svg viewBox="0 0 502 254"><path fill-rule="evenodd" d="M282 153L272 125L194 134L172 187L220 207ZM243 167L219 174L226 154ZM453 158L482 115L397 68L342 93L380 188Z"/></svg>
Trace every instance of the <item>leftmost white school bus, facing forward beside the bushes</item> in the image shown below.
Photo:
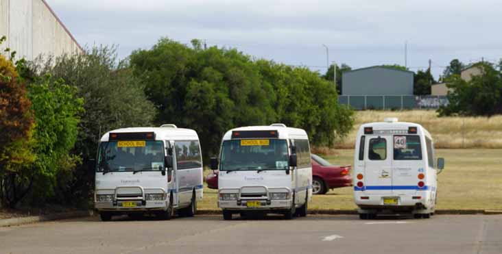
<svg viewBox="0 0 502 254"><path fill-rule="evenodd" d="M199 137L176 125L110 131L99 142L95 174L101 220L193 216L203 188Z"/></svg>

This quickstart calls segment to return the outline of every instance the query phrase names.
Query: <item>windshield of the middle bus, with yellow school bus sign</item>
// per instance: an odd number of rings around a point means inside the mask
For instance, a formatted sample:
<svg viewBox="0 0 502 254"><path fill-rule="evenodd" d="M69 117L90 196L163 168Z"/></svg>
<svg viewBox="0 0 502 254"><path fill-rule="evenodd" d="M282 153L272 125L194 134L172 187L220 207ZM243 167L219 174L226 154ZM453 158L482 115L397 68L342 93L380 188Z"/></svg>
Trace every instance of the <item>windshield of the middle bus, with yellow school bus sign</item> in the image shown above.
<svg viewBox="0 0 502 254"><path fill-rule="evenodd" d="M286 140L226 140L222 145L220 170L285 170Z"/></svg>

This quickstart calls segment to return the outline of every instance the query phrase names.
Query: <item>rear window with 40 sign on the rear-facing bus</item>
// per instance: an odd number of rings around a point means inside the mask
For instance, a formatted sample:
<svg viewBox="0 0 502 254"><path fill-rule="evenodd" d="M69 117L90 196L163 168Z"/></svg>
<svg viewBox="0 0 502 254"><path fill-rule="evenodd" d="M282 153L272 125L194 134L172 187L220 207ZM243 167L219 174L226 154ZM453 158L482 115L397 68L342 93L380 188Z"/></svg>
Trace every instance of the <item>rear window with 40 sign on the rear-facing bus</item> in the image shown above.
<svg viewBox="0 0 502 254"><path fill-rule="evenodd" d="M394 136L394 160L422 160L420 136Z"/></svg>

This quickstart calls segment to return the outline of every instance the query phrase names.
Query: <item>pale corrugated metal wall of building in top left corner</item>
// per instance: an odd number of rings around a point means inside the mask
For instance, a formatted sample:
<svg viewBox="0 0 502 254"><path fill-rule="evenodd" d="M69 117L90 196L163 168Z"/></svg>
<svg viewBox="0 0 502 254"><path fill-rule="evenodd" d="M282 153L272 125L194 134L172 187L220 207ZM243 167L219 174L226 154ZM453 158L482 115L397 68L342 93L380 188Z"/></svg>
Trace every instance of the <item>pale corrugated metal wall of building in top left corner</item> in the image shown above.
<svg viewBox="0 0 502 254"><path fill-rule="evenodd" d="M38 55L82 53L64 26L42 0L0 0L1 45L17 51L19 58L33 60Z"/></svg>

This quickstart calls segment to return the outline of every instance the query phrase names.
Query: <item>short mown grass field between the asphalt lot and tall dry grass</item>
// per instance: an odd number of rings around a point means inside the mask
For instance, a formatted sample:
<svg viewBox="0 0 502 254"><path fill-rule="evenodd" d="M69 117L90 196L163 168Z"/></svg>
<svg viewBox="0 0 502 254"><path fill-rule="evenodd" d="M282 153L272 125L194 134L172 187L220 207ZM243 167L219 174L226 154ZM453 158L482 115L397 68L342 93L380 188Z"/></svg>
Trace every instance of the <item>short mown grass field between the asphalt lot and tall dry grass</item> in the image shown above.
<svg viewBox="0 0 502 254"><path fill-rule="evenodd" d="M350 150L325 156L333 164L353 164ZM438 149L446 166L438 177L438 209L502 209L502 149ZM204 172L207 175L210 170ZM217 192L204 188L199 209L218 209ZM355 209L352 188L313 196L309 209Z"/></svg>

